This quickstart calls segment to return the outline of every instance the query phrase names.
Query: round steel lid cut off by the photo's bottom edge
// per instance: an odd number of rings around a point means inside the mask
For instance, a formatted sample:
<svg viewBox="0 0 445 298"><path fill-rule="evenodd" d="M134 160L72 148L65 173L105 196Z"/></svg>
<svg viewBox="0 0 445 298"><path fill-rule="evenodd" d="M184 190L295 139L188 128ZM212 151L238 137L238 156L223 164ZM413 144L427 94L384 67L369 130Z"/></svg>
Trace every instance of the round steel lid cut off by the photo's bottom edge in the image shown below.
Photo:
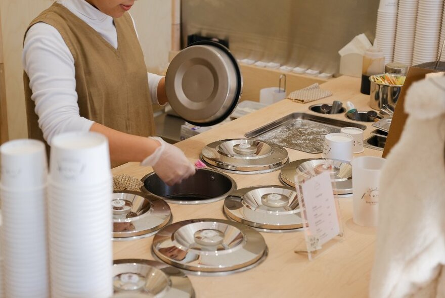
<svg viewBox="0 0 445 298"><path fill-rule="evenodd" d="M159 298L195 297L192 283L184 272L150 260L115 260L113 286L115 295L121 294L122 297L125 294L128 297L130 294Z"/></svg>

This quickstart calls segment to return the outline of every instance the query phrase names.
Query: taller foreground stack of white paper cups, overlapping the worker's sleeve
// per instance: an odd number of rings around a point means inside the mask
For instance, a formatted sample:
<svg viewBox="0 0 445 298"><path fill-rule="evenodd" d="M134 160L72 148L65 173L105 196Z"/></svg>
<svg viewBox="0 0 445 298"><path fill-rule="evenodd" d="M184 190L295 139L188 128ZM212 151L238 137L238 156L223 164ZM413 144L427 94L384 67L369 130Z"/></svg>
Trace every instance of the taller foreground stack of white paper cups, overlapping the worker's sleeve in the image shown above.
<svg viewBox="0 0 445 298"><path fill-rule="evenodd" d="M113 294L111 195L107 138L94 132L55 136L48 196L53 297Z"/></svg>

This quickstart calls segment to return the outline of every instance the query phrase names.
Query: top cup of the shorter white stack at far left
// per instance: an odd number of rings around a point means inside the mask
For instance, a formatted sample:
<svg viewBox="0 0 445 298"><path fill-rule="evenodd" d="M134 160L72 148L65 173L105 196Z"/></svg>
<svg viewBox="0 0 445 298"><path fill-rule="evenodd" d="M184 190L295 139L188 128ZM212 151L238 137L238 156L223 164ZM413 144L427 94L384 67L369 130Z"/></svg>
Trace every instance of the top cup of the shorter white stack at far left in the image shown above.
<svg viewBox="0 0 445 298"><path fill-rule="evenodd" d="M2 180L8 189L26 190L47 183L48 165L43 142L17 139L0 146Z"/></svg>

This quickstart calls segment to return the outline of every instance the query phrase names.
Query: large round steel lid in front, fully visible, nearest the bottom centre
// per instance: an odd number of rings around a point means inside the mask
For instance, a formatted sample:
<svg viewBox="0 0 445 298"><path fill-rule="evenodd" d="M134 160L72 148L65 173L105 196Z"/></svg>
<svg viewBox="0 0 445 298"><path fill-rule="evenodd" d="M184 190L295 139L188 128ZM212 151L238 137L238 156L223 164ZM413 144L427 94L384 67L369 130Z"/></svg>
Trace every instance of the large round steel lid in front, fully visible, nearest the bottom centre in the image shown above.
<svg viewBox="0 0 445 298"><path fill-rule="evenodd" d="M260 233L222 219L193 219L162 228L153 252L163 262L195 274L229 274L258 265L267 255Z"/></svg>

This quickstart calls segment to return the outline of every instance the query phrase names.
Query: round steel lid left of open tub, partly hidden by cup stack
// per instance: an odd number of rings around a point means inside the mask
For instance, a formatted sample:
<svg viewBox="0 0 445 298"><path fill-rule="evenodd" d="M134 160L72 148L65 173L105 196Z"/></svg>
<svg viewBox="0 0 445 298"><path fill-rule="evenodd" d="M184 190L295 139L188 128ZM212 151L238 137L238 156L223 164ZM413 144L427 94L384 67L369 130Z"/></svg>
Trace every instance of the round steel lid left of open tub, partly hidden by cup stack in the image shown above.
<svg viewBox="0 0 445 298"><path fill-rule="evenodd" d="M112 195L113 240L148 237L168 224L170 207L160 198L140 191L121 190Z"/></svg>

